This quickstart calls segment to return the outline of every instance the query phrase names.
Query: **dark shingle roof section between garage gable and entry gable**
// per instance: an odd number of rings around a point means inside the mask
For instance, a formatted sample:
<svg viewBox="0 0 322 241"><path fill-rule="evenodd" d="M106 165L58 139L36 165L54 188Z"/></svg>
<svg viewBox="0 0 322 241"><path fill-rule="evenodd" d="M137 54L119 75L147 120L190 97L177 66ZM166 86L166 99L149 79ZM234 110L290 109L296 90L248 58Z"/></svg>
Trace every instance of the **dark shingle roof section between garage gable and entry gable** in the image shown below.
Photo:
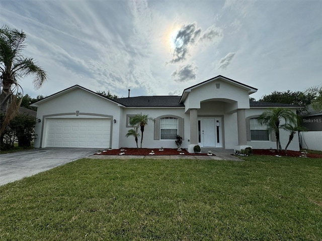
<svg viewBox="0 0 322 241"><path fill-rule="evenodd" d="M181 96L176 95L158 95L158 96L137 96L127 98L113 99L127 107L184 107L179 103Z"/></svg>

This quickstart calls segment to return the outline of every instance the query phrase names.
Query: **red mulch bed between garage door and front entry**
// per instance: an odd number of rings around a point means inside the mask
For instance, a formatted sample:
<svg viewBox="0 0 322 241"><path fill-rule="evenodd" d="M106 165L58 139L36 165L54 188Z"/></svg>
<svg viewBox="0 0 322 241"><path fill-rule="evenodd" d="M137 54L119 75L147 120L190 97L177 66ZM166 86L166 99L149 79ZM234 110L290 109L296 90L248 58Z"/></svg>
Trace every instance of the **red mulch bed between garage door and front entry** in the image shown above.
<svg viewBox="0 0 322 241"><path fill-rule="evenodd" d="M125 150L125 151L121 151ZM124 148L124 149L112 149L106 150L106 152L102 152L101 154L95 155L120 155L120 153L125 152L123 155L141 155L146 156L149 155L151 151L154 151L153 156L162 156L162 155L179 155L179 156L207 156L207 153L189 153L186 149L181 149L178 151L173 148L164 148L164 151L159 151L159 149L149 149L149 148ZM180 155L180 153L184 153L184 155Z"/></svg>

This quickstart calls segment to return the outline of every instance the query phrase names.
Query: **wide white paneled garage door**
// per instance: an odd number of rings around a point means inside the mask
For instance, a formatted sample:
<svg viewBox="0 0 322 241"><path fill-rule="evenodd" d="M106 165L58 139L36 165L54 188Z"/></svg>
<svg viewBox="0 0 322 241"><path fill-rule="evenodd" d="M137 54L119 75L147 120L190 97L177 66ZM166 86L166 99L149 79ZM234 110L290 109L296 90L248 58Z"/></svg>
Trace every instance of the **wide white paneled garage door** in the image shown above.
<svg viewBox="0 0 322 241"><path fill-rule="evenodd" d="M109 118L48 118L46 147L109 148Z"/></svg>

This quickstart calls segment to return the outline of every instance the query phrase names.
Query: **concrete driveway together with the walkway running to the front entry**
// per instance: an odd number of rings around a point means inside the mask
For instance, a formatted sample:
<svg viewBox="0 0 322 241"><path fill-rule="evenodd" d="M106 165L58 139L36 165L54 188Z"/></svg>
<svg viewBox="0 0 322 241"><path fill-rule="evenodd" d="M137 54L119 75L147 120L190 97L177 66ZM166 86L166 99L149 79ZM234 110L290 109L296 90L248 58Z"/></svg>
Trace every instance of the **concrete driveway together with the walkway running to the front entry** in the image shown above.
<svg viewBox="0 0 322 241"><path fill-rule="evenodd" d="M121 156L94 155L97 149L82 148L40 148L22 152L0 155L0 185L35 175L65 163L80 159L198 159L198 160L231 160L243 161L222 150L215 156Z"/></svg>

